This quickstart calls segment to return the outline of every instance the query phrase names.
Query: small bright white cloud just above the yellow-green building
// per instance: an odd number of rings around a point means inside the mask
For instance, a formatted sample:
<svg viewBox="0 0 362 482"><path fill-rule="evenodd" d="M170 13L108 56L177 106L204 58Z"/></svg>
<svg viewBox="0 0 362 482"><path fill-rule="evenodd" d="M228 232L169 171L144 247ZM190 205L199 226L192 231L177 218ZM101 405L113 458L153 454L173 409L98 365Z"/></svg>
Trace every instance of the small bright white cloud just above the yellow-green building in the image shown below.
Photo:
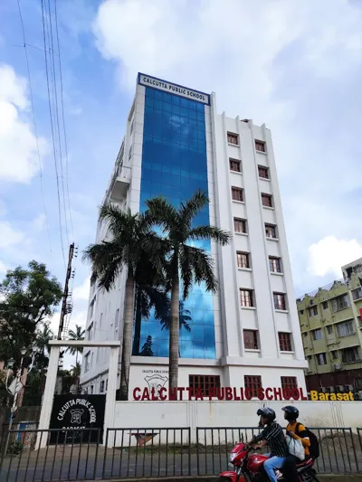
<svg viewBox="0 0 362 482"><path fill-rule="evenodd" d="M332 273L341 278L341 267L358 258L362 258L362 243L327 236L310 246L308 269L314 276Z"/></svg>

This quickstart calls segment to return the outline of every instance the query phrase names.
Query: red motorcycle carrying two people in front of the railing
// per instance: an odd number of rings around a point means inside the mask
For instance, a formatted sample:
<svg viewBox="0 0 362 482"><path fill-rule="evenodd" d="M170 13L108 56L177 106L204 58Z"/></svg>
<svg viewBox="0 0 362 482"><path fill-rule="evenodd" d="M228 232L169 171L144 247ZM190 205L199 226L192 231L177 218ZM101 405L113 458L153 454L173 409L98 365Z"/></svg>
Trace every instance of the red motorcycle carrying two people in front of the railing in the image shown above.
<svg viewBox="0 0 362 482"><path fill-rule="evenodd" d="M269 482L269 477L262 468L268 457L257 453L251 454L251 451L252 447L247 447L243 442L236 444L229 458L233 470L222 472L219 476L220 482ZM300 462L297 466L300 482L318 481L313 465L313 458ZM275 470L275 475L278 480L286 480L281 470Z"/></svg>

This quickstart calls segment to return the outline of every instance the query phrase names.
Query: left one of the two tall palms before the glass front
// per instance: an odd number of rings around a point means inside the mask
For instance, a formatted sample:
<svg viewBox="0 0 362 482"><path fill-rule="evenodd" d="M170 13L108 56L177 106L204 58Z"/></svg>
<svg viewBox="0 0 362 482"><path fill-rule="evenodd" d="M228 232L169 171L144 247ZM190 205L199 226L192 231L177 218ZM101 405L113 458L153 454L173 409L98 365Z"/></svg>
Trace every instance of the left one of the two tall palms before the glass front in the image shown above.
<svg viewBox="0 0 362 482"><path fill-rule="evenodd" d="M110 241L90 245L84 251L83 260L91 262L100 288L107 291L114 286L120 271L127 270L119 392L120 400L128 400L135 282L140 263L145 260L146 241L157 238L157 234L151 230L147 215L132 214L130 210L123 212L112 204L104 204L100 208L100 220L108 223ZM161 275L161 260L154 253L153 265L157 264L155 272Z"/></svg>

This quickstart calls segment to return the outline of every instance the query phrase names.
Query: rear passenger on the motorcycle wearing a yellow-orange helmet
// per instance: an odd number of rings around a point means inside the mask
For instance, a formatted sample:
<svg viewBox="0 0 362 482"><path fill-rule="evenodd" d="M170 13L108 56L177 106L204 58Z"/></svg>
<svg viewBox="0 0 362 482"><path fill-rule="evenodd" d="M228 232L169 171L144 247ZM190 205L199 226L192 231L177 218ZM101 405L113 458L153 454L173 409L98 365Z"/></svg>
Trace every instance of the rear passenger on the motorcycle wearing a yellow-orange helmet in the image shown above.
<svg viewBox="0 0 362 482"><path fill-rule="evenodd" d="M301 423L298 426L297 430L297 423L298 417L300 416L300 411L297 407L293 405L287 405L281 409L284 411L284 419L288 421L288 425L286 428L286 433L292 439L300 439L301 443L304 447L305 458L310 457L310 439L303 437L305 435L305 427ZM289 455L284 462L282 467L282 472L287 480L291 482L298 482L298 471L297 471L297 464L300 464L300 459L296 458L294 455Z"/></svg>

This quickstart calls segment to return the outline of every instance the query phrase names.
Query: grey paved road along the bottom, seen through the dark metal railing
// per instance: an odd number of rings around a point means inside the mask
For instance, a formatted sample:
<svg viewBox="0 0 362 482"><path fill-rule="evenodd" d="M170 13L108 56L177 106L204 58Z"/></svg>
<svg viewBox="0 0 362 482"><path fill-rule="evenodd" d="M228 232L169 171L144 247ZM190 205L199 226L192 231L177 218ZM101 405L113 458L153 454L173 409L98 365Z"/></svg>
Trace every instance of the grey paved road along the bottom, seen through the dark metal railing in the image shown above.
<svg viewBox="0 0 362 482"><path fill-rule="evenodd" d="M362 453L357 451L362 470ZM20 456L5 458L0 473L0 482L49 482L51 480L78 481L123 477L172 477L172 476L217 476L228 468L228 454L214 447L214 452L188 449L172 451L150 451L138 449L104 449L95 445L83 447L48 447L38 451L25 451ZM317 470L320 473L357 472L353 453L343 457L324 448L319 457Z"/></svg>

